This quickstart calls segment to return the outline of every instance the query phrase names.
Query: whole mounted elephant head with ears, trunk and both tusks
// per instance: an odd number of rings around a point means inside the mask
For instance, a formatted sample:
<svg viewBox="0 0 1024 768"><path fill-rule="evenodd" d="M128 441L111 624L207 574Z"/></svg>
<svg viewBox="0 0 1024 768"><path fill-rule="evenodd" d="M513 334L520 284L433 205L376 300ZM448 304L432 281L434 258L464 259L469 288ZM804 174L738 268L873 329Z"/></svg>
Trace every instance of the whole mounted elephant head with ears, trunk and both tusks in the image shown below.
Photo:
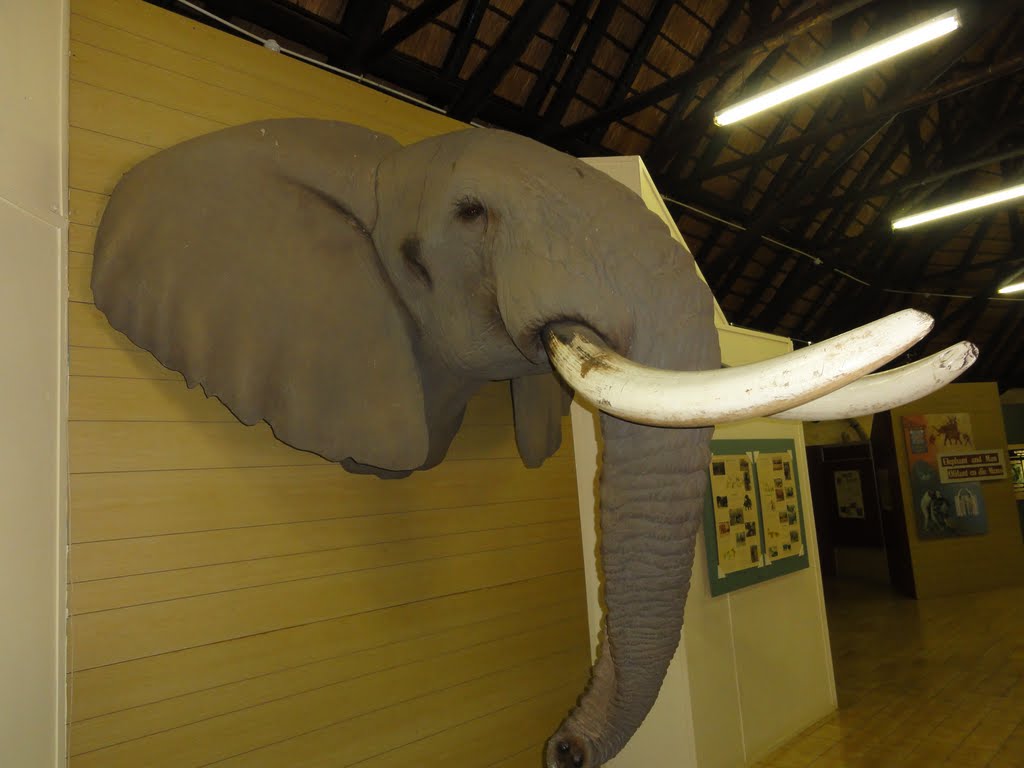
<svg viewBox="0 0 1024 768"><path fill-rule="evenodd" d="M188 386L350 471L437 464L488 381L512 382L529 466L557 449L569 389L602 412L605 640L548 742L552 768L604 763L657 696L716 423L884 410L976 355L962 343L865 376L929 330L905 310L723 369L711 293L640 198L487 129L403 147L344 123L275 120L173 146L115 189L92 289L111 324Z"/></svg>

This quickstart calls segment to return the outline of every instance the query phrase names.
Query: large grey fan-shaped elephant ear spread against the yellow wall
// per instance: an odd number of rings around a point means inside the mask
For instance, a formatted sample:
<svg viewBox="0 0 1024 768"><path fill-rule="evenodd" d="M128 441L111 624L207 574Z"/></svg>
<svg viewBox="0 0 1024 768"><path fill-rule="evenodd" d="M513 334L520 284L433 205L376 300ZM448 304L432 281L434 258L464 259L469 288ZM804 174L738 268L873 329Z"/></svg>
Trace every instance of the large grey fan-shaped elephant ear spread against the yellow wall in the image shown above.
<svg viewBox="0 0 1024 768"><path fill-rule="evenodd" d="M275 120L154 156L100 224L96 306L246 424L349 469L420 467L415 337L370 237L377 165L397 148Z"/></svg>

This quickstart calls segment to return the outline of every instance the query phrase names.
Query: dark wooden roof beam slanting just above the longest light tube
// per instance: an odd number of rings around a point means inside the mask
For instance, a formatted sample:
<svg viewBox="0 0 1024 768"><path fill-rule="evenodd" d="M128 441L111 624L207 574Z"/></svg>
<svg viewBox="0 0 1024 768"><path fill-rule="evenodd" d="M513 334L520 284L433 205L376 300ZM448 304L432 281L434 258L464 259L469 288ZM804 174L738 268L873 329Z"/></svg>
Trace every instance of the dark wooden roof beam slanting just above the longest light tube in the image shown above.
<svg viewBox="0 0 1024 768"><path fill-rule="evenodd" d="M686 91L695 83L707 80L709 77L745 63L753 56L766 55L818 25L833 22L872 2L877 2L877 0L845 0L845 2L822 0L822 2L813 5L805 3L794 15L763 29L744 44L711 56L699 65L694 63L683 74L669 78L664 83L659 83L643 93L638 93L614 106L601 110L596 115L565 126L553 138L561 138L566 135L585 135L595 128L634 115L658 101L664 101L666 98Z"/></svg>

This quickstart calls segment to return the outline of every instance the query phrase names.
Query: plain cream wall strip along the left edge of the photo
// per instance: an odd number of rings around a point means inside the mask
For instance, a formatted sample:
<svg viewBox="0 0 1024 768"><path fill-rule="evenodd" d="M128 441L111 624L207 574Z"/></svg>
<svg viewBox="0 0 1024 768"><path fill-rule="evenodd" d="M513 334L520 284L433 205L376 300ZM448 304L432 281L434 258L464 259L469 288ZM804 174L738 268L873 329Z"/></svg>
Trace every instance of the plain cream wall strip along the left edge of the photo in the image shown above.
<svg viewBox="0 0 1024 768"><path fill-rule="evenodd" d="M68 3L0 2L0 763L63 764Z"/></svg>

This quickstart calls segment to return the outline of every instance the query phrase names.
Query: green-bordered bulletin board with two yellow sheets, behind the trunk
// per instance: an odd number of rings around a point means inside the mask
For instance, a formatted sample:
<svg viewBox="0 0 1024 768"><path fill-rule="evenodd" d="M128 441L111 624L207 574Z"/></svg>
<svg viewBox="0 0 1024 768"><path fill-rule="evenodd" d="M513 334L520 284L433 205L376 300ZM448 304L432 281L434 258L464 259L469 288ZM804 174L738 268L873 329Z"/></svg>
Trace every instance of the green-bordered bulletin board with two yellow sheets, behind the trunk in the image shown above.
<svg viewBox="0 0 1024 768"><path fill-rule="evenodd" d="M713 597L808 566L796 444L712 440L705 501Z"/></svg>

